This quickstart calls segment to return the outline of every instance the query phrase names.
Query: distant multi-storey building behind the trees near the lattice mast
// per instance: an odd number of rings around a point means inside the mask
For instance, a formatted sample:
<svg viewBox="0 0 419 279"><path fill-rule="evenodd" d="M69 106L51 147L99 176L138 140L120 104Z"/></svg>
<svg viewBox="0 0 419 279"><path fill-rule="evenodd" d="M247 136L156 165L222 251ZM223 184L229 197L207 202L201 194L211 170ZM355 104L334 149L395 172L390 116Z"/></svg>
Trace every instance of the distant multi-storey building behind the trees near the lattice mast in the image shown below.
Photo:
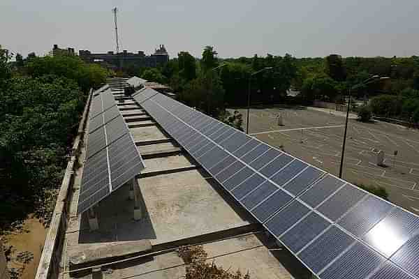
<svg viewBox="0 0 419 279"><path fill-rule="evenodd" d="M100 63L108 68L128 68L128 67L156 67L164 65L169 61L169 54L164 45L160 45L154 54L149 56L145 52L138 51L137 53L123 52L114 53L112 51L107 53L91 53L89 50L79 50L79 56L87 63Z"/></svg>

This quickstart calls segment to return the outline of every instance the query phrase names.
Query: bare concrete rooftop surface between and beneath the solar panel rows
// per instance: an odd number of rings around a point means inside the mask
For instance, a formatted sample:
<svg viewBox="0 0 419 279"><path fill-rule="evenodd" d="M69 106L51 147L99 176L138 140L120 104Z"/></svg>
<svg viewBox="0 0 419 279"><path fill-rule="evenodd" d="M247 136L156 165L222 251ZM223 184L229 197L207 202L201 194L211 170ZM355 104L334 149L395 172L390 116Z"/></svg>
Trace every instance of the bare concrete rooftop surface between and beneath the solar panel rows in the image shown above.
<svg viewBox="0 0 419 279"><path fill-rule="evenodd" d="M122 97L118 89L114 96ZM146 168L136 177L142 218L125 185L96 206L98 229L76 215L79 170L64 241L61 271L67 278L182 278L179 246L203 243L209 261L251 278L306 278L307 269L196 163L133 100L118 105ZM115 262L121 261L122 262ZM82 270L80 270L82 269ZM69 273L68 271L71 271Z"/></svg>

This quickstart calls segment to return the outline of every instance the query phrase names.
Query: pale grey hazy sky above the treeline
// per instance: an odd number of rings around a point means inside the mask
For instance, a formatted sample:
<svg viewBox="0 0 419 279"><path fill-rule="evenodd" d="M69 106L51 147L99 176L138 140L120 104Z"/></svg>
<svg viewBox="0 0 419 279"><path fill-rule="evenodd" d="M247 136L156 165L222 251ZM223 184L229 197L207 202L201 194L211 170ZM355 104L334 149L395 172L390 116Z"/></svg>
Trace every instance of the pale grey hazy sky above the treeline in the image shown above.
<svg viewBox="0 0 419 279"><path fill-rule="evenodd" d="M111 9L119 8L122 49L171 57L419 55L418 0L0 0L0 44L24 56L53 44L115 50Z"/></svg>

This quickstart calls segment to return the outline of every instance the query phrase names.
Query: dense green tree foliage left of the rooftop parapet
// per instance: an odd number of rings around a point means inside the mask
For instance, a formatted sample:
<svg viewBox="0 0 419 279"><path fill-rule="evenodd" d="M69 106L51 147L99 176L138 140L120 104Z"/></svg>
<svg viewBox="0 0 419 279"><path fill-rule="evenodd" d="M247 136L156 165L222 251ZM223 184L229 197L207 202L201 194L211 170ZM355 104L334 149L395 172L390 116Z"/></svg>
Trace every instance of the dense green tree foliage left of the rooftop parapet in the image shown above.
<svg viewBox="0 0 419 279"><path fill-rule="evenodd" d="M0 234L28 214L50 223L57 190L89 86L106 70L75 56L28 56L24 70L8 67L0 49ZM19 58L20 59L20 58Z"/></svg>

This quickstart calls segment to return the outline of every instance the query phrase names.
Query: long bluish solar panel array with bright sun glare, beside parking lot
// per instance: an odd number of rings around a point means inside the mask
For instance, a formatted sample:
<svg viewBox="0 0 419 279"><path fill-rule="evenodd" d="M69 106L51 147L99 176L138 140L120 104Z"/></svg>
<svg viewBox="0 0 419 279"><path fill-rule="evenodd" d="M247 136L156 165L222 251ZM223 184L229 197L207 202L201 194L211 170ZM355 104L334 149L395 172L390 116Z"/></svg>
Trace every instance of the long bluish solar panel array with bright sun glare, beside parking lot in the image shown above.
<svg viewBox="0 0 419 279"><path fill-rule="evenodd" d="M318 278L419 278L419 218L156 91L135 100Z"/></svg>

